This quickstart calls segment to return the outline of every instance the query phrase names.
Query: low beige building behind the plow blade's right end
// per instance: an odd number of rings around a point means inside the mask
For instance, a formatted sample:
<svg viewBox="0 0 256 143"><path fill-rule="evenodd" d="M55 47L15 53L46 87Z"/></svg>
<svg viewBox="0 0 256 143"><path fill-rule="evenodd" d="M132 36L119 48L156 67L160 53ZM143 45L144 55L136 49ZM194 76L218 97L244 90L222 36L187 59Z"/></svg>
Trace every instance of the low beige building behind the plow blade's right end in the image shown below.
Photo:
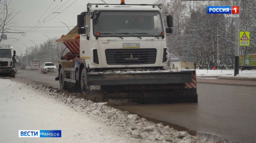
<svg viewBox="0 0 256 143"><path fill-rule="evenodd" d="M177 67L178 70L192 70L194 69L194 63L197 62L196 57L169 57L168 66Z"/></svg>

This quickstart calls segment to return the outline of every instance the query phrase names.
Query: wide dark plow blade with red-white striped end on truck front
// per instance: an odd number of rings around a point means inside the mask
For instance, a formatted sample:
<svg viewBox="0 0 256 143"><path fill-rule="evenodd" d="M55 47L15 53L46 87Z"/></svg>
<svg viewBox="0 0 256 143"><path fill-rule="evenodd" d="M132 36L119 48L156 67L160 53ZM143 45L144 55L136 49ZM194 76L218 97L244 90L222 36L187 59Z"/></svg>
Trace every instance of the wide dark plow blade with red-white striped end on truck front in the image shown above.
<svg viewBox="0 0 256 143"><path fill-rule="evenodd" d="M87 83L141 103L197 103L195 70L89 73Z"/></svg>

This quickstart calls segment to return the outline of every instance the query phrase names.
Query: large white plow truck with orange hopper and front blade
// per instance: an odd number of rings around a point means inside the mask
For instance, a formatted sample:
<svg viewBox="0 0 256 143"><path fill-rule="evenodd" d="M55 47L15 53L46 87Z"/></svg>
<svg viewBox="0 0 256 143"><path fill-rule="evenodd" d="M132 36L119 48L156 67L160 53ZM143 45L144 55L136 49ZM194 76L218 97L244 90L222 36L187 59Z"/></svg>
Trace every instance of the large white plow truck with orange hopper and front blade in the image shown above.
<svg viewBox="0 0 256 143"><path fill-rule="evenodd" d="M59 63L60 89L88 93L100 85L107 92L129 92L145 102L197 103L195 70L168 71L166 36L173 19L163 4L87 4L77 26L56 40L70 50ZM166 35L167 33L167 35ZM131 94L133 93L133 94Z"/></svg>

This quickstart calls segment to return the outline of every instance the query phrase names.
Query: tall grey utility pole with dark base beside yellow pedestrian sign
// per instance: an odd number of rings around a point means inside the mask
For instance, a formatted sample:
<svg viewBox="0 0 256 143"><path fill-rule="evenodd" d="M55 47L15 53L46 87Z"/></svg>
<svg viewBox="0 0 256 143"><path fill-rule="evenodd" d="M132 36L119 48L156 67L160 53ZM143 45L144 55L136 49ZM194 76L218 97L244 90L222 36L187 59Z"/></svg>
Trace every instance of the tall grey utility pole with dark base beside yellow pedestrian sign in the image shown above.
<svg viewBox="0 0 256 143"><path fill-rule="evenodd" d="M240 6L239 0L236 0L236 6ZM234 76L239 74L239 17L235 18L235 70Z"/></svg>

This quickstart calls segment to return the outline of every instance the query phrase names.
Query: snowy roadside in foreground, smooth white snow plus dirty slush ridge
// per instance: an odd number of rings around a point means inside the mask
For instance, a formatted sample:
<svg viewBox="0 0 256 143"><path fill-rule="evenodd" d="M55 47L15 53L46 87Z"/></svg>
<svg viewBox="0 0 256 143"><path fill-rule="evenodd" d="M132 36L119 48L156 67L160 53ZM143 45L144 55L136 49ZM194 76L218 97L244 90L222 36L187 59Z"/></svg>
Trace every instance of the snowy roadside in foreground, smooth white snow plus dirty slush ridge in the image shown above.
<svg viewBox="0 0 256 143"><path fill-rule="evenodd" d="M0 78L0 142L205 141L162 123L94 103L66 91ZM61 130L61 138L18 138L18 130Z"/></svg>

